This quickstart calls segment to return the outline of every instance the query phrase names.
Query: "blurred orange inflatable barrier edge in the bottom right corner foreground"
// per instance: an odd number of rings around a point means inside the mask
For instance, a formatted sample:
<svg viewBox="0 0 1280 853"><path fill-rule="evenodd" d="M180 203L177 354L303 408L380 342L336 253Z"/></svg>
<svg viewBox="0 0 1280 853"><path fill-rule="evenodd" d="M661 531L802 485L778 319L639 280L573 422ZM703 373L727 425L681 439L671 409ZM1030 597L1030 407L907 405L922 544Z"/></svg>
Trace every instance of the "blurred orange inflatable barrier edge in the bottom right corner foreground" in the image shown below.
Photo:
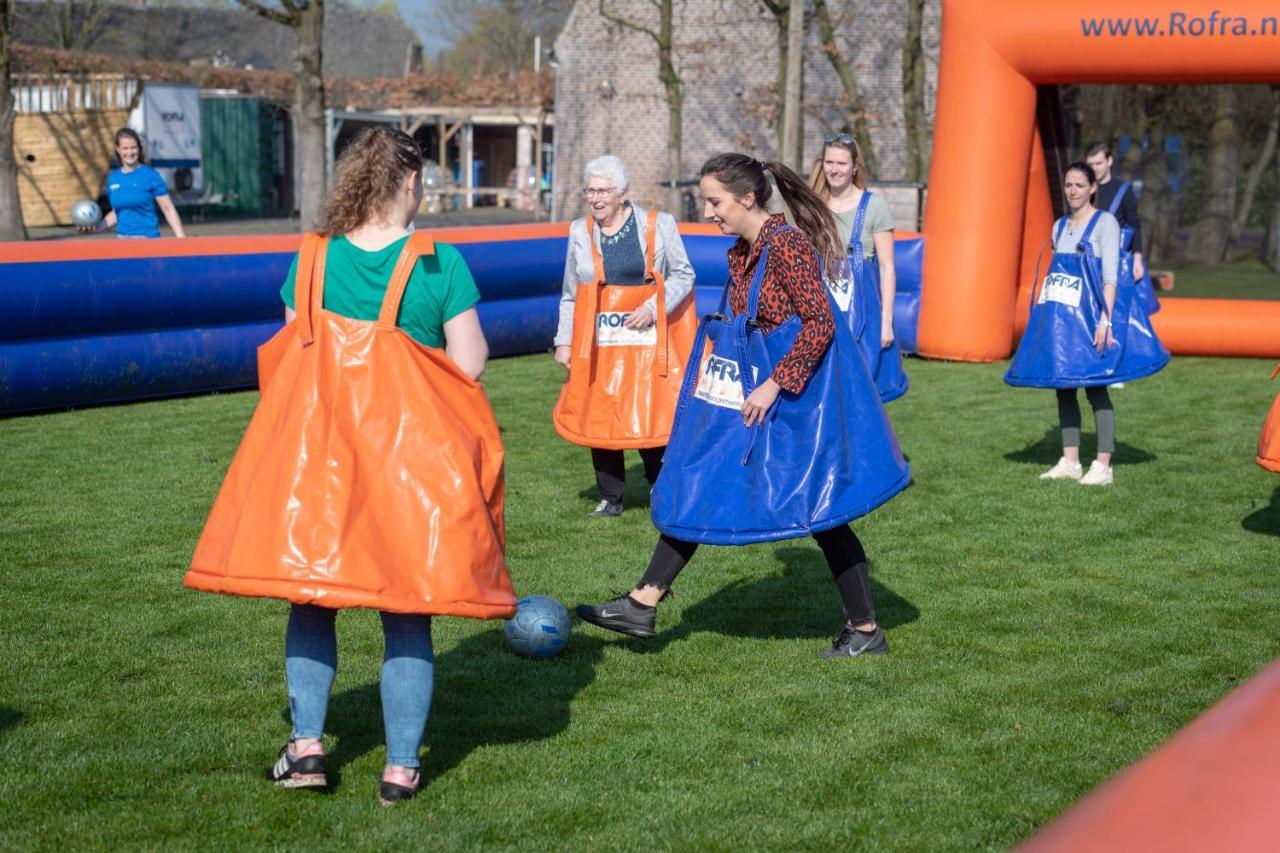
<svg viewBox="0 0 1280 853"><path fill-rule="evenodd" d="M1020 849L1276 849L1280 662L1089 794Z"/></svg>

